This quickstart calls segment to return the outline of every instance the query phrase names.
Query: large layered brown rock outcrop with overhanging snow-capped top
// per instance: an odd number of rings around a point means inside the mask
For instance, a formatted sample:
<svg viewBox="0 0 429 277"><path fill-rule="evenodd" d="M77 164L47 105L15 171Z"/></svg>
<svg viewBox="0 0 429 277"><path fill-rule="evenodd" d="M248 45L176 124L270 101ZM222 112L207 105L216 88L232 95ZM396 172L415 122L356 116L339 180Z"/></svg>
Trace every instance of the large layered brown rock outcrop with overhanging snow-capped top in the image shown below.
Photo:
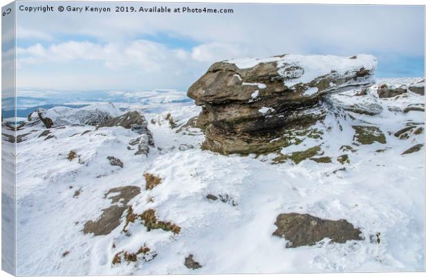
<svg viewBox="0 0 429 277"><path fill-rule="evenodd" d="M206 129L203 148L222 154L275 151L284 129L324 118L322 96L370 84L371 55L283 55L217 62L188 89L203 107L195 126ZM274 142L273 139L276 139Z"/></svg>

